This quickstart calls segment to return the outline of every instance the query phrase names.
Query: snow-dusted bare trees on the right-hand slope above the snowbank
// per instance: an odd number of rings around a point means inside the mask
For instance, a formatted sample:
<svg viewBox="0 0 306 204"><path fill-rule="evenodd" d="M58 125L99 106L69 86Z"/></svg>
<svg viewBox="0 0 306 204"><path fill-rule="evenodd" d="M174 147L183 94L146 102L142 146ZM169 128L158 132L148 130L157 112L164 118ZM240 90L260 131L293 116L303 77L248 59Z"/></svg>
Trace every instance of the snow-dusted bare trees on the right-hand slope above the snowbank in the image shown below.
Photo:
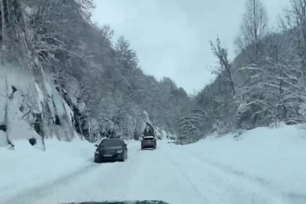
<svg viewBox="0 0 306 204"><path fill-rule="evenodd" d="M194 131L190 135L202 134L201 138L213 132L306 121L305 11L305 0L291 0L289 9L281 14L278 31L271 32L262 2L246 0L235 40L237 57L229 62L221 40L211 42L219 62L212 69L217 78L195 97L203 114L190 112L192 125L186 124Z"/></svg>

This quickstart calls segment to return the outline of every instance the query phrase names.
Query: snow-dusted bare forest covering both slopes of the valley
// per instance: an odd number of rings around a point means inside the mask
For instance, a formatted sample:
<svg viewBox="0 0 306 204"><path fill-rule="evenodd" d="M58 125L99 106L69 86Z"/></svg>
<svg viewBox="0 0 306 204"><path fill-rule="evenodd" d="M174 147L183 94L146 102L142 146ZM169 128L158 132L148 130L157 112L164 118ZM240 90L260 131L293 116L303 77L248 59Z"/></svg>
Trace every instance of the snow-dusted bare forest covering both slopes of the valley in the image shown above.
<svg viewBox="0 0 306 204"><path fill-rule="evenodd" d="M145 75L129 41L91 22L91 0L0 0L0 6L1 60L28 70L43 92L41 104L33 104L42 137L51 135L46 126L59 124L46 82L74 111L75 129L85 137L112 131L137 139L146 113L182 142L306 121L306 0L291 0L279 32L268 30L260 0L247 0L237 57L229 61L222 40L212 41L217 77L194 96L169 78Z"/></svg>

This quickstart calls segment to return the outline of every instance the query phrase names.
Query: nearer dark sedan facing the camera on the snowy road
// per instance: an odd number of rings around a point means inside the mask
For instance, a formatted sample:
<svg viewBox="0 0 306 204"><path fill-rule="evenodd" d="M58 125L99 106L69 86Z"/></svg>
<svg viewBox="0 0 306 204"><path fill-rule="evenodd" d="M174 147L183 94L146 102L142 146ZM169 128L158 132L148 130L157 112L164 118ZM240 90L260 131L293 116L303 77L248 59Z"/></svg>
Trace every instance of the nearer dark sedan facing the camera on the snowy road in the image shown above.
<svg viewBox="0 0 306 204"><path fill-rule="evenodd" d="M94 152L94 162L121 161L127 159L127 147L122 139L104 139Z"/></svg>

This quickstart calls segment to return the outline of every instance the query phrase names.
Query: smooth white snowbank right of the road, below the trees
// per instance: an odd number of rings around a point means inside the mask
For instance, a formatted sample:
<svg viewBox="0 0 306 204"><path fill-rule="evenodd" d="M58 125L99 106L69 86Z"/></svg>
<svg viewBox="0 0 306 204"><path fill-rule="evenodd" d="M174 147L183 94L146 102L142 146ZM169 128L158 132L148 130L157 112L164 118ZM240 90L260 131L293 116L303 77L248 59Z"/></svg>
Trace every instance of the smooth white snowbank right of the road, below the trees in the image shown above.
<svg viewBox="0 0 306 204"><path fill-rule="evenodd" d="M238 139L233 134L208 137L180 149L224 172L306 203L305 128L305 124L259 127Z"/></svg>

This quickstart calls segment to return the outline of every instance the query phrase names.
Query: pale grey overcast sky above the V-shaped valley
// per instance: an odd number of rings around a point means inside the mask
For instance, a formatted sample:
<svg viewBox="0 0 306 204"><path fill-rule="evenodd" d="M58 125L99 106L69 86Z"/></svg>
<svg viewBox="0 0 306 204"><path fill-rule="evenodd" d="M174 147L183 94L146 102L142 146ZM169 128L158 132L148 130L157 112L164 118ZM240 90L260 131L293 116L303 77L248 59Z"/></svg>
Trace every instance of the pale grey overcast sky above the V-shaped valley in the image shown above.
<svg viewBox="0 0 306 204"><path fill-rule="evenodd" d="M268 24L290 0L262 0ZM188 93L200 91L214 76L210 40L218 35L234 58L246 0L95 0L92 20L110 24L115 38L123 35L137 51L141 68L158 80L171 78Z"/></svg>

